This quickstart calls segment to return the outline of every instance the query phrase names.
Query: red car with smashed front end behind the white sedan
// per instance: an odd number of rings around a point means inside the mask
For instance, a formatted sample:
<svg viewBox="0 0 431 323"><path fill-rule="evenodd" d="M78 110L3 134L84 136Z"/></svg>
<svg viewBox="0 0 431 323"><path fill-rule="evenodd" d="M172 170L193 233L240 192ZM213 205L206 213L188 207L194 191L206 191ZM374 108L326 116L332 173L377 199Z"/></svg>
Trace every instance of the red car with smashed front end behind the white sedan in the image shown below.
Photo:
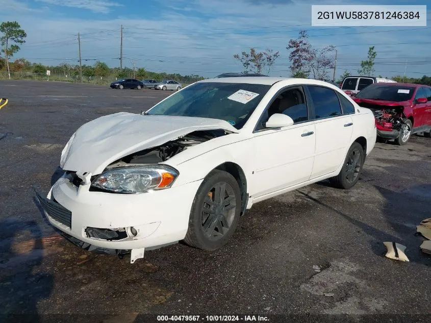
<svg viewBox="0 0 431 323"><path fill-rule="evenodd" d="M377 136L407 143L412 134L431 137L431 87L409 83L372 84L353 97L375 116Z"/></svg>

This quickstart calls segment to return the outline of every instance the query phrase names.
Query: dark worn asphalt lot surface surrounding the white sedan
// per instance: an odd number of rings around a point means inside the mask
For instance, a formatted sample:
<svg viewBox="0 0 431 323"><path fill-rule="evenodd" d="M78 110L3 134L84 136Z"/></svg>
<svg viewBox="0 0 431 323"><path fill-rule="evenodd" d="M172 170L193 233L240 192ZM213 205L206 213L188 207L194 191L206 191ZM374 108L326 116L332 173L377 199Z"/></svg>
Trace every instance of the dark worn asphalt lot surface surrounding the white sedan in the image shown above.
<svg viewBox="0 0 431 323"><path fill-rule="evenodd" d="M83 123L141 112L170 93L0 83L9 98L0 110L0 313L123 322L139 313L406 314L429 322L431 258L414 233L431 217L431 139L420 136L404 146L377 143L348 191L321 182L256 204L216 252L175 244L130 264L60 238L32 185L48 191L63 146ZM384 241L406 245L410 262L385 258Z"/></svg>

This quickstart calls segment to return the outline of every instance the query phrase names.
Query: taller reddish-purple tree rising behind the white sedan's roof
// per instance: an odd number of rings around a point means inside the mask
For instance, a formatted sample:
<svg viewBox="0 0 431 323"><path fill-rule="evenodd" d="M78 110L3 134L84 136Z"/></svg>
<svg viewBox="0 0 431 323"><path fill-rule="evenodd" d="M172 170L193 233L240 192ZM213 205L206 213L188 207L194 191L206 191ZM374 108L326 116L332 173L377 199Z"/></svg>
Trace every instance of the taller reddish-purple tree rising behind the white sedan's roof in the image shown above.
<svg viewBox="0 0 431 323"><path fill-rule="evenodd" d="M307 31L300 30L298 38L289 40L286 49L292 49L292 52L289 54L292 76L300 74L308 78L310 75L310 64L313 61L313 51L308 40Z"/></svg>

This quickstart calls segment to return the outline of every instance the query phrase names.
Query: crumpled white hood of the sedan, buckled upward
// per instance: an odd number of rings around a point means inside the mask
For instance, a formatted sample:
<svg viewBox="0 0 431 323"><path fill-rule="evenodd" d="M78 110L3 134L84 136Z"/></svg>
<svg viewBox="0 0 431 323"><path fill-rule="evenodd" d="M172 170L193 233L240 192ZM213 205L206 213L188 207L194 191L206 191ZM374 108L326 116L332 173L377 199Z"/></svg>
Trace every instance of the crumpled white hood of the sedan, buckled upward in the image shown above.
<svg viewBox="0 0 431 323"><path fill-rule="evenodd" d="M77 130L62 167L97 175L121 157L193 131L215 129L238 132L229 122L219 119L115 113L87 122Z"/></svg>

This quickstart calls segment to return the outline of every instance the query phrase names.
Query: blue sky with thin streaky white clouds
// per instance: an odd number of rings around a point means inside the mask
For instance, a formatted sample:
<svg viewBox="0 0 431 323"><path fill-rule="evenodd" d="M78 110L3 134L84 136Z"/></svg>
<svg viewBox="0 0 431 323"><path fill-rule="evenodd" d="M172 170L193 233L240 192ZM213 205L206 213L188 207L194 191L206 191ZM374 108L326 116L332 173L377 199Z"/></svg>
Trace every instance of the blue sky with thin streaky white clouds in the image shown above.
<svg viewBox="0 0 431 323"><path fill-rule="evenodd" d="M236 53L271 48L280 58L271 76L290 76L289 39L300 29L316 48L337 47L338 77L357 73L368 47L375 46L376 76L431 75L431 8L427 27L312 27L311 5L426 5L428 0L0 0L3 21L18 21L26 43L14 58L44 65L99 60L123 67L213 77L240 72ZM335 56L335 55L333 55ZM332 73L331 73L332 76Z"/></svg>

